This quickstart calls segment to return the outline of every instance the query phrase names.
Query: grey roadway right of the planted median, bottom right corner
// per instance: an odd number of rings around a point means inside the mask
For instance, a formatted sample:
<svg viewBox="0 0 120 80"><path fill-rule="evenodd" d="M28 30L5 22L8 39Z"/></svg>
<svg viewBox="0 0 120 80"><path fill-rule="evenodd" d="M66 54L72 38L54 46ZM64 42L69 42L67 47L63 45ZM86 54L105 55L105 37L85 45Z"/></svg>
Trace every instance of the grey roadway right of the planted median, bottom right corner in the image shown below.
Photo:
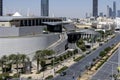
<svg viewBox="0 0 120 80"><path fill-rule="evenodd" d="M91 80L114 80L112 75L117 74L118 67L118 55L120 55L117 50L115 54L93 75Z"/></svg>

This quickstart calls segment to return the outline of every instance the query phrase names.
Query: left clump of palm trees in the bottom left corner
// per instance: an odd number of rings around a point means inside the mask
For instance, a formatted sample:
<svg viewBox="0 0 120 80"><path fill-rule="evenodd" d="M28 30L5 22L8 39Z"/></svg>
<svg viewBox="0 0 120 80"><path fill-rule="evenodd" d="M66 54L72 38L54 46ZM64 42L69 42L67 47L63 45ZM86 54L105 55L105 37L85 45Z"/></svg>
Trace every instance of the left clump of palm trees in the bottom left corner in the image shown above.
<svg viewBox="0 0 120 80"><path fill-rule="evenodd" d="M11 54L4 55L0 59L0 66L2 68L2 74L11 73L13 68L17 70L17 76L19 76L19 65L25 67L25 62L29 61L29 58L25 54ZM16 66L16 67L13 67ZM22 72L25 73L25 69L22 68Z"/></svg>

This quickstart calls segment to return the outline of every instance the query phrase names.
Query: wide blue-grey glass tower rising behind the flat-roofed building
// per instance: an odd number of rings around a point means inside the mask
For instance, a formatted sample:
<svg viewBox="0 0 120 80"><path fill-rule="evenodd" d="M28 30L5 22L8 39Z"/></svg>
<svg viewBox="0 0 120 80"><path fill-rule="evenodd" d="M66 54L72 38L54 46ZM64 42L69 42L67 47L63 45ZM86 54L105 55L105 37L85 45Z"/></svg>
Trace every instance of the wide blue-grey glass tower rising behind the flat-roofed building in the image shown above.
<svg viewBox="0 0 120 80"><path fill-rule="evenodd" d="M49 0L41 0L41 16L49 16Z"/></svg>

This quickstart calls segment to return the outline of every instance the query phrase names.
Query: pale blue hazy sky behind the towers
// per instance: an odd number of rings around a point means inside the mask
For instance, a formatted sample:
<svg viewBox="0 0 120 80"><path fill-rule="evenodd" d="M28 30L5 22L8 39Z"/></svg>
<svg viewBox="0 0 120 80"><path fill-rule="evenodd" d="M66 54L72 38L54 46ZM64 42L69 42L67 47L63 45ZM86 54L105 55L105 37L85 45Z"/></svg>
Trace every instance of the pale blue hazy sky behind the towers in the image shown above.
<svg viewBox="0 0 120 80"><path fill-rule="evenodd" d="M120 9L120 0L99 0L99 12L106 13L106 6L112 7L113 1L117 3L117 9ZM30 9L30 14L40 16L41 0L3 0L4 14L20 12L23 15L27 14ZM85 17L86 12L92 13L92 0L49 0L50 16L65 16L65 17Z"/></svg>

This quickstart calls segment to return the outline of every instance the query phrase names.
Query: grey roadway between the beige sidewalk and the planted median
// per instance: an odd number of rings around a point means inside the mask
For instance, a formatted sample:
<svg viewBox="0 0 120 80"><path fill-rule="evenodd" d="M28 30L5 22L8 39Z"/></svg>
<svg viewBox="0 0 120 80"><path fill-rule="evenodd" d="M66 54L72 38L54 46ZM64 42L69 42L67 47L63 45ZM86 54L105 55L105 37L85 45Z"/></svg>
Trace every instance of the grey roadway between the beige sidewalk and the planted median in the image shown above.
<svg viewBox="0 0 120 80"><path fill-rule="evenodd" d="M79 75L84 73L86 66L89 66L90 63L93 62L93 59L96 58L100 51L104 50L108 46L112 46L113 44L116 44L120 42L120 34L116 34L115 38L109 40L107 43L103 44L101 47L93 51L91 54L86 56L84 59L79 61L78 63L75 63L71 67L69 67L65 72L65 76L58 75L53 80L76 80Z"/></svg>

